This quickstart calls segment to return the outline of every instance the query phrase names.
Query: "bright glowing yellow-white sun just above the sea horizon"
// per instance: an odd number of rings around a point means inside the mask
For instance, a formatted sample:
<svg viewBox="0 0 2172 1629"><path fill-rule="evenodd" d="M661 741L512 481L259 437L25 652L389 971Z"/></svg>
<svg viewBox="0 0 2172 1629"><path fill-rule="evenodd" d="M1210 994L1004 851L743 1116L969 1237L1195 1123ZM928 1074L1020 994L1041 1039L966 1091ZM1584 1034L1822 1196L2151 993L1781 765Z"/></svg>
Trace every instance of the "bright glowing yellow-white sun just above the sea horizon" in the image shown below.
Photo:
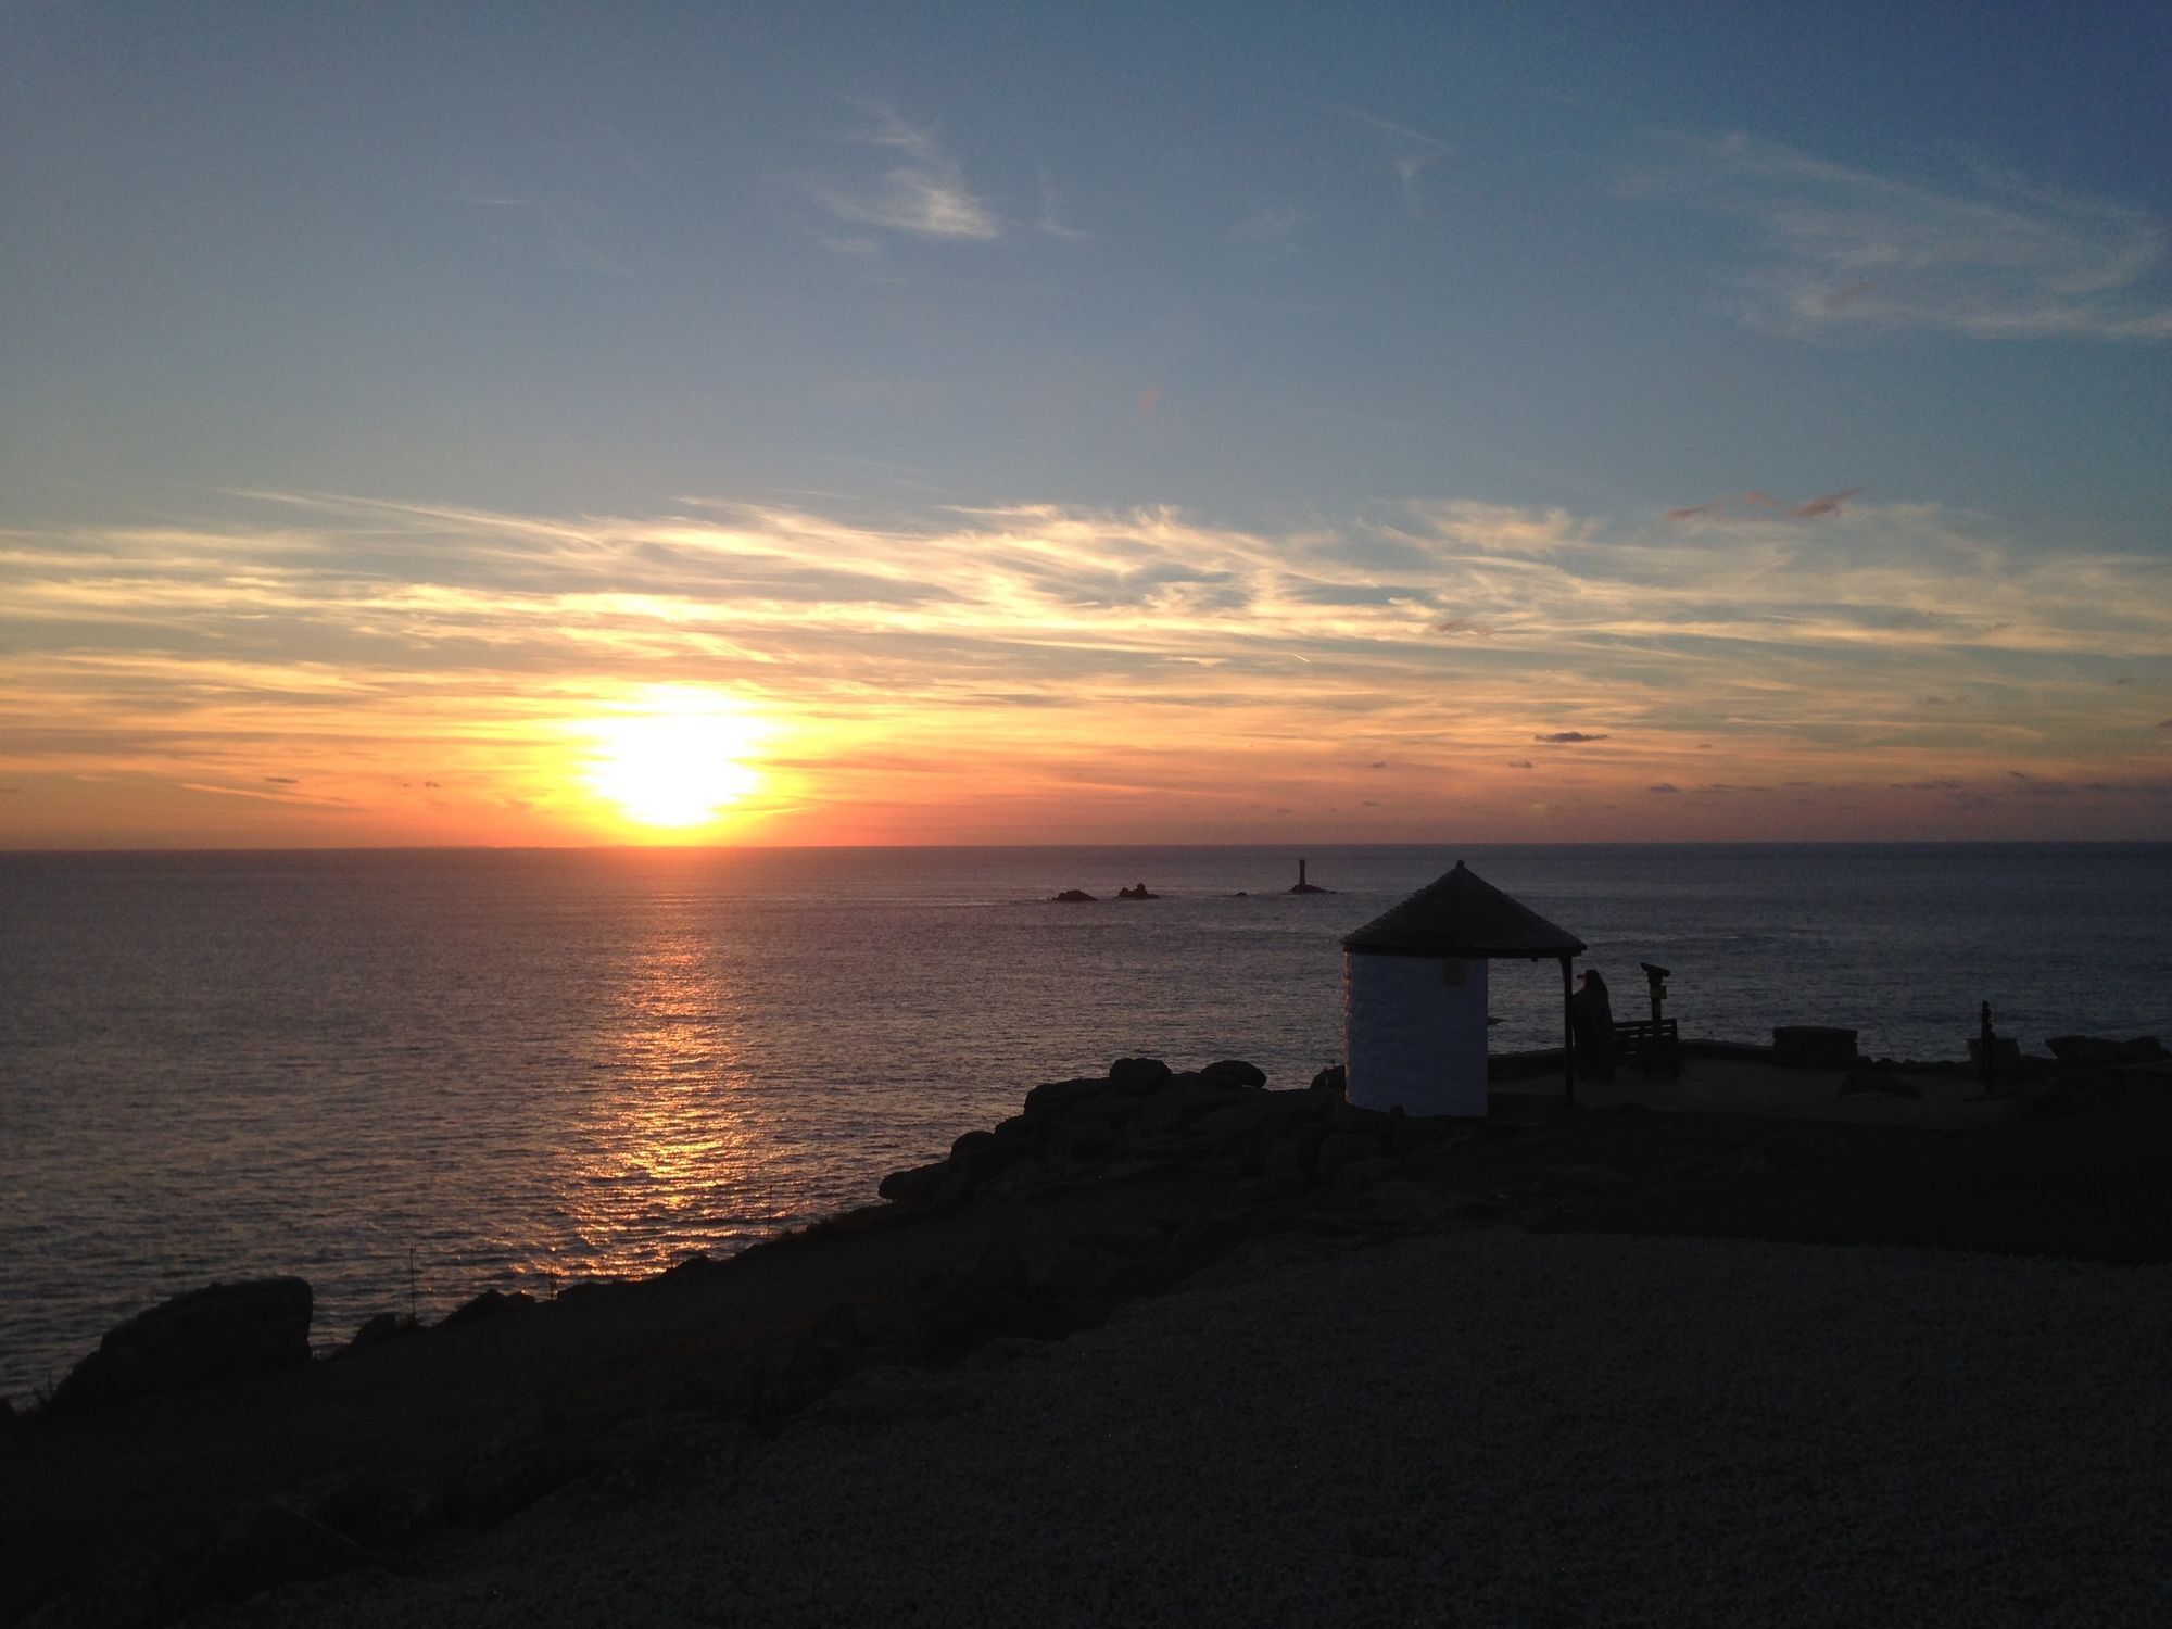
<svg viewBox="0 0 2172 1629"><path fill-rule="evenodd" d="M595 743L589 786L634 825L708 825L762 784L747 754L765 725L721 691L654 686L582 732Z"/></svg>

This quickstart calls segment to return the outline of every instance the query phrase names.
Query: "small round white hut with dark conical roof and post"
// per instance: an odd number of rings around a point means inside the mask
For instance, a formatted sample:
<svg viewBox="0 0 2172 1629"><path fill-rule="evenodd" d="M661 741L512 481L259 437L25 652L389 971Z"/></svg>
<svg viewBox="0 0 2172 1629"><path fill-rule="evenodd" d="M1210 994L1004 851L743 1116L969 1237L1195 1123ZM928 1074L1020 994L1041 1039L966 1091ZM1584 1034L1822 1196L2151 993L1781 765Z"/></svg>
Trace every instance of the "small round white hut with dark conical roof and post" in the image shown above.
<svg viewBox="0 0 2172 1629"><path fill-rule="evenodd" d="M1486 967L1568 964L1583 940L1520 906L1462 860L1342 940L1342 1062L1349 1101L1405 1114L1486 1114ZM1568 1045L1564 1040L1564 1045ZM1575 1053L1568 1056L1575 1095Z"/></svg>

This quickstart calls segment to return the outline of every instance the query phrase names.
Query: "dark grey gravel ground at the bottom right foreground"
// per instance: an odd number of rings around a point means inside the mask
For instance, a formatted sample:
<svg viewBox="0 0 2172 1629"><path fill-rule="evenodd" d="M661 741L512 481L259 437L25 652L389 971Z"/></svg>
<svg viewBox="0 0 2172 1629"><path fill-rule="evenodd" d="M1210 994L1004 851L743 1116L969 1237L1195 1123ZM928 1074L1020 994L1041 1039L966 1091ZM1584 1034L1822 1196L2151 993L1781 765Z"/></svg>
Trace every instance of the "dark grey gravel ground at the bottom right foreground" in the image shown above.
<svg viewBox="0 0 2172 1629"><path fill-rule="evenodd" d="M191 1622L2172 1620L2172 1268L1501 1229L1221 1279Z"/></svg>

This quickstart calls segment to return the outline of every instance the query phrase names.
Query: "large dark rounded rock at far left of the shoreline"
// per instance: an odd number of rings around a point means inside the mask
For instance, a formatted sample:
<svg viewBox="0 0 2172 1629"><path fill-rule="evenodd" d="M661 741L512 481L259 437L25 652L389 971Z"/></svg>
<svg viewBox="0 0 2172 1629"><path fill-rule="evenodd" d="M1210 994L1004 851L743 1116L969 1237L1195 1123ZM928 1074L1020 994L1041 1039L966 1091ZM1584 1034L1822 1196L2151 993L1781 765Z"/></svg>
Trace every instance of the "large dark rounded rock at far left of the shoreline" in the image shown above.
<svg viewBox="0 0 2172 1629"><path fill-rule="evenodd" d="M115 1325L70 1371L54 1407L167 1392L224 1375L308 1362L308 1279L206 1284Z"/></svg>

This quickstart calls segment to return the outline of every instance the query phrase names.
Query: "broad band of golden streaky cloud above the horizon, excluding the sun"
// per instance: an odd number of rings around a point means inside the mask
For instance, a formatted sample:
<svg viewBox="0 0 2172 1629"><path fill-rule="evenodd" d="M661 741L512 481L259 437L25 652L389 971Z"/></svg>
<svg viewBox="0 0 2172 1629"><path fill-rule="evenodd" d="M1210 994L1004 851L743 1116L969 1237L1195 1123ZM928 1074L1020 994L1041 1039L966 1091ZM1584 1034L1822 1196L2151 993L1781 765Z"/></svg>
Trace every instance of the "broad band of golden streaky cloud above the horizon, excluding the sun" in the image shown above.
<svg viewBox="0 0 2172 1629"><path fill-rule="evenodd" d="M1108 741L1201 810L1234 788L1325 806L1353 760L1477 799L1675 784L1688 804L1725 791L1696 773L1714 741L1731 786L1950 780L1998 801L2022 795L2013 765L2074 786L2161 771L2165 649L2172 565L1935 506L1683 528L1442 500L1245 530L1058 504L851 521L258 493L219 523L0 532L0 775L291 782L382 812L428 773L454 788L432 810L530 821L569 719L671 682L788 717L795 773L867 808L951 797L967 762L1084 797ZM2150 684L2107 682L2129 669ZM1605 728L1553 728L1579 719ZM1553 752L1520 756L1533 741Z"/></svg>

